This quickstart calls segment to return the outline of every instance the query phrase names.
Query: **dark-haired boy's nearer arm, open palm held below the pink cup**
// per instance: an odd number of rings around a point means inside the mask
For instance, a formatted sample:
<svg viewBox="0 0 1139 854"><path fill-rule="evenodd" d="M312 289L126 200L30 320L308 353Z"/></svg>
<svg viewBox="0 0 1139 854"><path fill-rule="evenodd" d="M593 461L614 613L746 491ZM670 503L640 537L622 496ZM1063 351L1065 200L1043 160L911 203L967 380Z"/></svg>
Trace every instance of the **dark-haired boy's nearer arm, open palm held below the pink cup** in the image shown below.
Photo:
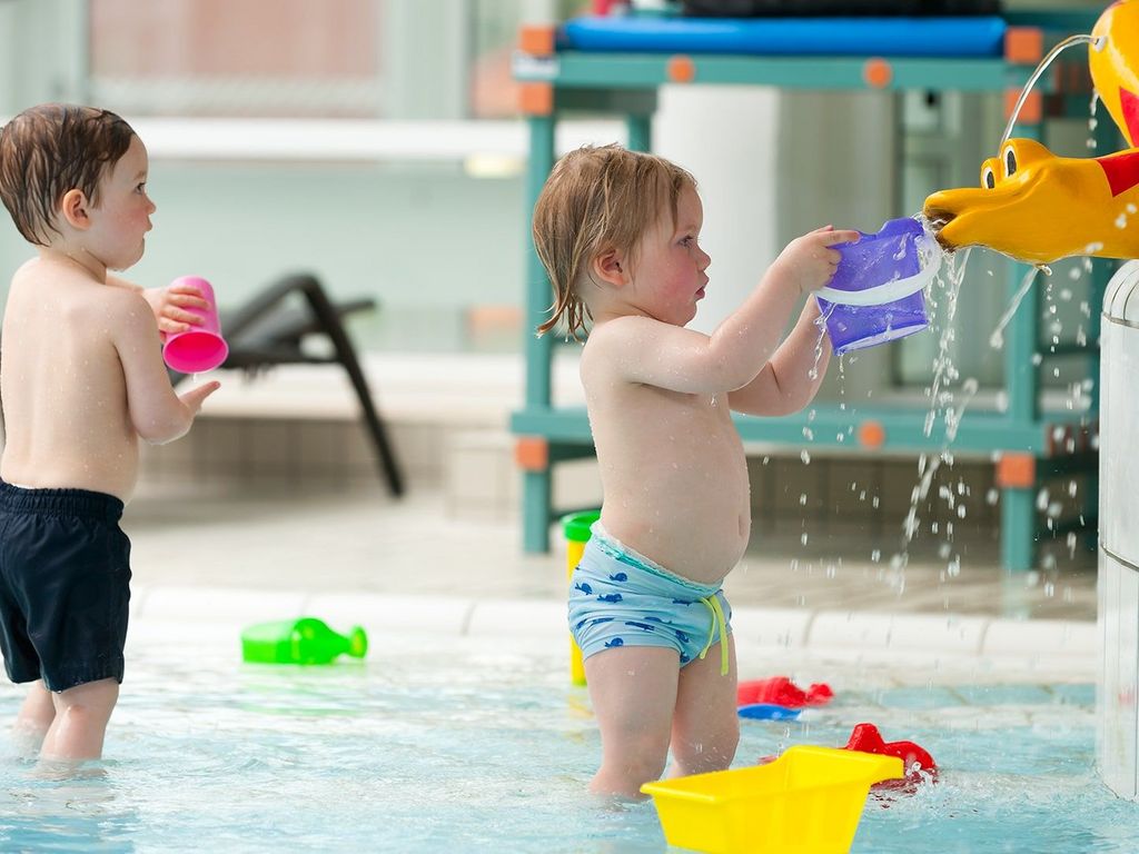
<svg viewBox="0 0 1139 854"><path fill-rule="evenodd" d="M116 301L112 330L126 381L131 424L147 442L163 444L186 435L205 401L221 386L205 383L185 394L174 393L162 363L158 327L141 294Z"/></svg>

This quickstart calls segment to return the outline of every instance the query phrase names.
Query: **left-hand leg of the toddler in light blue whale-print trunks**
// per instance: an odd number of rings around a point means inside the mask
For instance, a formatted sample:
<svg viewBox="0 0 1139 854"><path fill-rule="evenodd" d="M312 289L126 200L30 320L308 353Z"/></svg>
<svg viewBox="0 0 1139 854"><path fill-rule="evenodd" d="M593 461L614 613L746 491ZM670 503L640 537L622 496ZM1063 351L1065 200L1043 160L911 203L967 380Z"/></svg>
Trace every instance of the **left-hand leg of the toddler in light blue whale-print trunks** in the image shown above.
<svg viewBox="0 0 1139 854"><path fill-rule="evenodd" d="M640 798L669 756L677 701L677 651L618 647L585 659L585 680L601 730L601 767L590 791Z"/></svg>

